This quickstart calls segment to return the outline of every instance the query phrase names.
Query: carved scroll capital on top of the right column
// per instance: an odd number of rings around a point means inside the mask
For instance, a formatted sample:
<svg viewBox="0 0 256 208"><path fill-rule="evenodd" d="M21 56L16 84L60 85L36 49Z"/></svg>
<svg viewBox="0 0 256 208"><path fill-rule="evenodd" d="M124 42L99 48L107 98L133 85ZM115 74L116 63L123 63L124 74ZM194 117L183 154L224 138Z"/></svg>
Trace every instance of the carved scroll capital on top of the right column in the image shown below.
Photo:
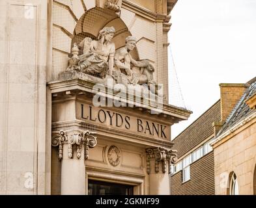
<svg viewBox="0 0 256 208"><path fill-rule="evenodd" d="M159 164L162 163L162 172L165 173L167 169L167 165L169 168L169 174L171 173L171 164L174 164L177 161L177 151L171 149L168 151L164 148L149 148L146 149L147 152L147 174L150 174L150 161L155 161L155 172L158 173L160 171Z"/></svg>

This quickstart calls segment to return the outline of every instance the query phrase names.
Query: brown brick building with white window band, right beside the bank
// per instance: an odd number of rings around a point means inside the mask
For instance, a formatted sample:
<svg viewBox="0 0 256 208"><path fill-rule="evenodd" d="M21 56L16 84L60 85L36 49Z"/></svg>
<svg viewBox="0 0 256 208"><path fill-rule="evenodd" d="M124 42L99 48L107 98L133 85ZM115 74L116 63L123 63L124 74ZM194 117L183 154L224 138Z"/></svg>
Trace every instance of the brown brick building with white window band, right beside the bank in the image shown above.
<svg viewBox="0 0 256 208"><path fill-rule="evenodd" d="M220 100L178 135L178 161L171 175L171 194L214 194L214 138L212 123L220 120Z"/></svg>

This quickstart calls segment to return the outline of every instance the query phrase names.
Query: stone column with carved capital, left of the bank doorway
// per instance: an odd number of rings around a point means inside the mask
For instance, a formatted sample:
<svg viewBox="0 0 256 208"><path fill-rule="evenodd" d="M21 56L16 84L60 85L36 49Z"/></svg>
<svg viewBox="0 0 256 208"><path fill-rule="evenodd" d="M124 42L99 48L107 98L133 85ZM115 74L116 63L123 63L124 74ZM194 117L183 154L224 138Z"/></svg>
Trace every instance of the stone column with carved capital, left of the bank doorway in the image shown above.
<svg viewBox="0 0 256 208"><path fill-rule="evenodd" d="M61 160L61 195L85 195L85 160L89 148L97 144L90 131L60 131L53 137L52 146L59 147Z"/></svg>

